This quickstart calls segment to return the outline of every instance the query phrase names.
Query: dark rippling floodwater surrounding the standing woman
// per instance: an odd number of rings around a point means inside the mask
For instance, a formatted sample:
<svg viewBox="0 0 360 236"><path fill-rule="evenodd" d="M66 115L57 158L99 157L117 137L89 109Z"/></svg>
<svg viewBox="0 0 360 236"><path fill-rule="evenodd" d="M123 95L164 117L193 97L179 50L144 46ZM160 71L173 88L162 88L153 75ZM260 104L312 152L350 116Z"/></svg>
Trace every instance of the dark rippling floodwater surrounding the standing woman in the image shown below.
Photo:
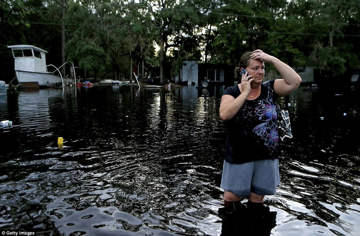
<svg viewBox="0 0 360 236"><path fill-rule="evenodd" d="M271 235L360 235L360 92L303 88L280 100L294 138L282 144L278 191L265 198L276 212ZM104 85L1 96L0 119L13 122L0 128L1 230L220 235L222 91Z"/></svg>

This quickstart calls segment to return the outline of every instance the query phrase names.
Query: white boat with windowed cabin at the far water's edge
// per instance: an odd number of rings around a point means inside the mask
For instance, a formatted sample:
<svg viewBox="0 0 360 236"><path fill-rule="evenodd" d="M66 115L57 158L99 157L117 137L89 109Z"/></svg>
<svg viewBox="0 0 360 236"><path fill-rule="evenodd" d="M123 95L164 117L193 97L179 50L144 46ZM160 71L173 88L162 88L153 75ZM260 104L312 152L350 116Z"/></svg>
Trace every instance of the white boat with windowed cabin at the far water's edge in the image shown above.
<svg viewBox="0 0 360 236"><path fill-rule="evenodd" d="M21 88L64 86L64 83L75 85L75 76L69 79L63 77L59 71L66 63L59 68L46 65L47 51L32 45L10 45L8 48L12 50L14 56L15 75ZM53 66L55 70L49 72L47 69L49 66Z"/></svg>

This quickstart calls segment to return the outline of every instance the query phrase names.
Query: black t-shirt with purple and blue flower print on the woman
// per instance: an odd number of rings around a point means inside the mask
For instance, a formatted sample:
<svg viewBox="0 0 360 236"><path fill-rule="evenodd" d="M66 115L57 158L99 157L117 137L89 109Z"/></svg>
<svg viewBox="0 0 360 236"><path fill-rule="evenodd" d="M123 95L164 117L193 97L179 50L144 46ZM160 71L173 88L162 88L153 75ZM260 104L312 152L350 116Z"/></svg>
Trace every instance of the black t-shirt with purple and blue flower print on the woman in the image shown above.
<svg viewBox="0 0 360 236"><path fill-rule="evenodd" d="M274 81L271 87L274 89ZM237 85L225 89L223 95L238 97ZM274 94L274 99L277 99ZM255 100L246 100L230 121L225 121L228 134L225 143L225 160L242 164L261 159L279 158L277 114L269 90L261 84L261 93Z"/></svg>

